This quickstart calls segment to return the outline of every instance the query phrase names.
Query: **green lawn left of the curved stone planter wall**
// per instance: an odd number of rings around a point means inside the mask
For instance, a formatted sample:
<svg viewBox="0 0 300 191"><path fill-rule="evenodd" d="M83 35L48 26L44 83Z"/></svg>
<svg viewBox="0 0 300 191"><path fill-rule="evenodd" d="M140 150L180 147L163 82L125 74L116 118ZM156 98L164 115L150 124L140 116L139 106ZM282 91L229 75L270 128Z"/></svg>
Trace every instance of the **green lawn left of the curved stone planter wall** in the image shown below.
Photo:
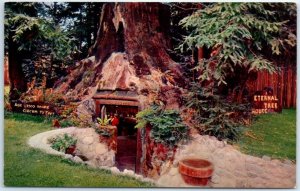
<svg viewBox="0 0 300 191"><path fill-rule="evenodd" d="M47 118L6 113L4 119L5 186L151 187L153 185L106 170L93 169L30 148L30 136L51 130Z"/></svg>

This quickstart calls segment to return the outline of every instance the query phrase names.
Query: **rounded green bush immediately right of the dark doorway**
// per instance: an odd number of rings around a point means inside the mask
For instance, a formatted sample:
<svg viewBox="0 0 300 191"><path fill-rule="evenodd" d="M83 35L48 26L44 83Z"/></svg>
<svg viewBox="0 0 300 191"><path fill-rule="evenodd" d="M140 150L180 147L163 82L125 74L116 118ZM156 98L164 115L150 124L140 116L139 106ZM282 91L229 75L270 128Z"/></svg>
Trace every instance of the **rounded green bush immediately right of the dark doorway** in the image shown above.
<svg viewBox="0 0 300 191"><path fill-rule="evenodd" d="M151 138L156 143L174 146L189 138L189 129L176 110L164 110L153 105L139 112L136 118L136 128L145 127L147 123L151 125Z"/></svg>

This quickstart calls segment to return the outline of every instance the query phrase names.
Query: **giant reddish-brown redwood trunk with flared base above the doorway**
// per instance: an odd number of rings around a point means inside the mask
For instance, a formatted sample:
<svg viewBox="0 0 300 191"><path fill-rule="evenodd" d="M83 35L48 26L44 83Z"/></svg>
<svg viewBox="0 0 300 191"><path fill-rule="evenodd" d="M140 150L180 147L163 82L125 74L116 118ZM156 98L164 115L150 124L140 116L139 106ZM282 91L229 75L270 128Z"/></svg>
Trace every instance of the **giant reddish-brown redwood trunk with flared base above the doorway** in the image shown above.
<svg viewBox="0 0 300 191"><path fill-rule="evenodd" d="M56 90L74 101L91 100L97 90L128 90L139 95L142 108L157 98L178 107L184 78L167 53L169 18L161 3L105 4L89 58Z"/></svg>

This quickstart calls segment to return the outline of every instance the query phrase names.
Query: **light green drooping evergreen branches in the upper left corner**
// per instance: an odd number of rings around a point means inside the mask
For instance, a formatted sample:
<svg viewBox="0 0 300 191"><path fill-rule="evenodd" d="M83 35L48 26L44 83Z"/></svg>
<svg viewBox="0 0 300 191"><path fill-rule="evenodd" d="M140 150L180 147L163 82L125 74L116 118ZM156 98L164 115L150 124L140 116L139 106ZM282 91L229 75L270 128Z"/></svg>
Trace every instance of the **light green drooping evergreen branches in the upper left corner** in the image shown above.
<svg viewBox="0 0 300 191"><path fill-rule="evenodd" d="M22 5L26 6L26 3ZM51 51L54 59L63 60L74 50L74 39L67 32L49 19L18 12L14 4L6 6L5 29L6 41L10 38L9 34L12 34L11 38L19 45L19 51L36 48L41 51L46 48Z"/></svg>

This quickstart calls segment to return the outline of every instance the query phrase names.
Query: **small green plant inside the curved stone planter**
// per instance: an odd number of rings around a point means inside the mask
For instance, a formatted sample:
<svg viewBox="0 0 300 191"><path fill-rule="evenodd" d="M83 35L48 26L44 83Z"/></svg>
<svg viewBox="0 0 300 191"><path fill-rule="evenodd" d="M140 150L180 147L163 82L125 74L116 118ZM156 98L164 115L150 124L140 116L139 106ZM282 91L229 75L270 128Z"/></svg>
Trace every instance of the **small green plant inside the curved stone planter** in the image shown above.
<svg viewBox="0 0 300 191"><path fill-rule="evenodd" d="M65 152L70 146L76 145L77 140L65 133L63 136L56 137L51 143L51 148L60 152Z"/></svg>

